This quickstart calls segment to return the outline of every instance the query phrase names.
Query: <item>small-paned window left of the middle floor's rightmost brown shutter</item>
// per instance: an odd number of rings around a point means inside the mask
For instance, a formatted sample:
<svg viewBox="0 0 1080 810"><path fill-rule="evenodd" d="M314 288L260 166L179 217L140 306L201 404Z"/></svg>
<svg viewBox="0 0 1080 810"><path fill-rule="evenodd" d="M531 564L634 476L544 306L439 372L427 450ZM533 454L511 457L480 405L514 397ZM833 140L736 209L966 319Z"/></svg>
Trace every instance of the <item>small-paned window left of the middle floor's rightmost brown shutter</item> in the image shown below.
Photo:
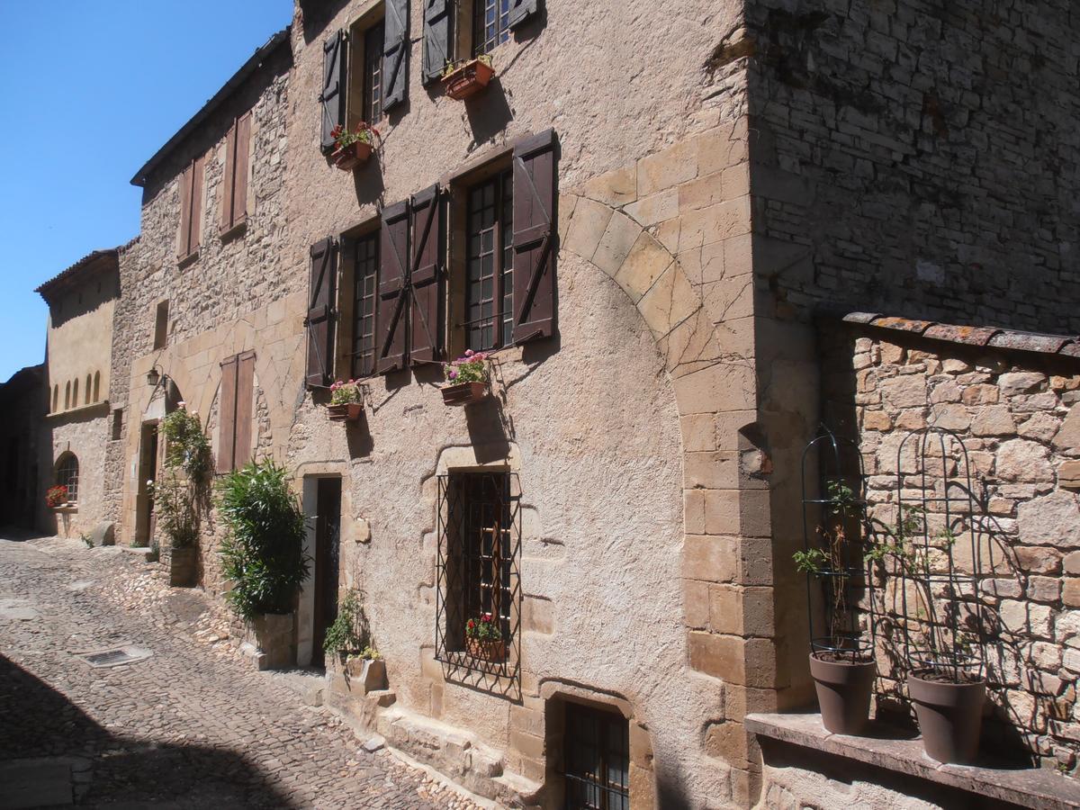
<svg viewBox="0 0 1080 810"><path fill-rule="evenodd" d="M471 188L468 206L465 339L473 351L486 351L513 342L513 172Z"/></svg>

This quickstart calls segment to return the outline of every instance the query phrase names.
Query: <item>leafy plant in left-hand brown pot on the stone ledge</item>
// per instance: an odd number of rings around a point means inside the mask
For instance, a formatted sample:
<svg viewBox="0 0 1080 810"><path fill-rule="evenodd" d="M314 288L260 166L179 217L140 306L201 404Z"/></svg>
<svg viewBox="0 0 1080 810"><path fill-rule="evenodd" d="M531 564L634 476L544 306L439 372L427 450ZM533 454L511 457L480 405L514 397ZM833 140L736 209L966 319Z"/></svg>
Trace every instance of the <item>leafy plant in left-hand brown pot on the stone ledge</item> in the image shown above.
<svg viewBox="0 0 1080 810"><path fill-rule="evenodd" d="M862 570L852 565L848 532L860 525L860 505L841 480L826 482L824 505L828 526L819 526L821 546L809 546L793 555L796 568L821 583L825 600L826 635L813 633L810 606L810 675L818 693L822 724L834 733L859 734L869 720L870 697L877 666L873 647L865 644L853 616L851 589L864 582Z"/></svg>

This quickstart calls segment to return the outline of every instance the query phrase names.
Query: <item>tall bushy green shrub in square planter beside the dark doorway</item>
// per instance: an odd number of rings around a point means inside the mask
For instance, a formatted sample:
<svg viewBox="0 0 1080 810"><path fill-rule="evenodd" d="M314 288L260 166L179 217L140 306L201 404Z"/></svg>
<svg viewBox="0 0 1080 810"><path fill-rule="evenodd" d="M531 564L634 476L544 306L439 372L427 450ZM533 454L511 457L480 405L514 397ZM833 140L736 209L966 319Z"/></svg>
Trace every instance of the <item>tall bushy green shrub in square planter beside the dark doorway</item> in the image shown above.
<svg viewBox="0 0 1080 810"><path fill-rule="evenodd" d="M303 553L303 512L288 473L272 459L226 475L217 492L225 527L221 569L226 599L248 623L261 665L284 666L293 647L293 612L310 558Z"/></svg>

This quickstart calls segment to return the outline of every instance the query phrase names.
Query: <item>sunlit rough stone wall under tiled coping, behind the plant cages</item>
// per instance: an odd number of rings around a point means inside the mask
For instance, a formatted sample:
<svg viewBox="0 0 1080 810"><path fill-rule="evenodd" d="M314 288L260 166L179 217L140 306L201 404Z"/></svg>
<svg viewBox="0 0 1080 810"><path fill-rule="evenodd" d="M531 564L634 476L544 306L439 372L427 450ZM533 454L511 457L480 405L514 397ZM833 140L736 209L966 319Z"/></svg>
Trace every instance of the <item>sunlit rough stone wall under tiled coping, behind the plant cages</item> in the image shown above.
<svg viewBox="0 0 1080 810"><path fill-rule="evenodd" d="M1008 741L1018 732L1030 752L1072 768L1080 751L1077 361L835 325L823 332L821 351L826 421L858 435L867 499L882 524L899 522L897 464L904 473L916 469L915 443L897 456L904 437L935 427L962 440L976 505L985 514L976 521L977 589L990 608L983 626L996 707L985 740ZM962 457L953 448L947 454L949 476L962 483ZM940 460L927 469L940 495ZM920 505L917 484L907 475L902 480L905 501ZM931 534L940 528L933 523ZM975 570L969 548L960 532L954 549L961 576ZM882 691L896 693L885 658L879 670Z"/></svg>

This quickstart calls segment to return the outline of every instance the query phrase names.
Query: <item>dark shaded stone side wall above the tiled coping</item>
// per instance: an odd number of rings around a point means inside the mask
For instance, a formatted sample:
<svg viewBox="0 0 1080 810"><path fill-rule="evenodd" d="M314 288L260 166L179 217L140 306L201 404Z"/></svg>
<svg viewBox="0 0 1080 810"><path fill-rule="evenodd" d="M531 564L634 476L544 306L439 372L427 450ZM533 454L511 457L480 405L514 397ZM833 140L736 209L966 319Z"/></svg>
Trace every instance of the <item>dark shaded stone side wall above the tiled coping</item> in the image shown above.
<svg viewBox="0 0 1080 810"><path fill-rule="evenodd" d="M1080 330L1074 3L751 0L746 26L718 56L752 54L758 274L779 313L832 299Z"/></svg>

